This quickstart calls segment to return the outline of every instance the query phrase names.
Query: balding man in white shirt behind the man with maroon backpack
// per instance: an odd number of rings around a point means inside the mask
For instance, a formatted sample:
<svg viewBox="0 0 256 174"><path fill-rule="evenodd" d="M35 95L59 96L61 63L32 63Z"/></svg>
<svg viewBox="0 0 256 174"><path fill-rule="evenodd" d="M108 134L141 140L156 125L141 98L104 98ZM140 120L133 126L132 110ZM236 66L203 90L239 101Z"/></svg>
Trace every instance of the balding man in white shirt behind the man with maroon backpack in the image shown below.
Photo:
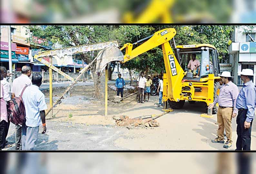
<svg viewBox="0 0 256 174"><path fill-rule="evenodd" d="M27 85L31 85L31 79L29 78L32 74L30 66L22 66L21 68L21 76L17 77L13 81L11 93L12 98L15 96L18 97L20 92L23 90L23 88ZM19 125L15 126L15 150L21 150L22 149L22 143L21 143L21 131L22 127Z"/></svg>

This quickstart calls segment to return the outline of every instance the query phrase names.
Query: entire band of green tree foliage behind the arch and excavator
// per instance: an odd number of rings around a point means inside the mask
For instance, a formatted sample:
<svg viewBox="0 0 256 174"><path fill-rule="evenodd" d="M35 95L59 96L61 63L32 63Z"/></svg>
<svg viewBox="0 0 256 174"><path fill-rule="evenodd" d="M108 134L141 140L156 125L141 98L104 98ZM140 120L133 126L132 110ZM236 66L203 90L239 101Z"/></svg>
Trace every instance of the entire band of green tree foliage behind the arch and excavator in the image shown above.
<svg viewBox="0 0 256 174"><path fill-rule="evenodd" d="M219 52L219 58L228 57L228 46L234 26L226 25L52 25L28 26L33 36L59 43L63 47L84 45L117 39L120 46L134 43L164 28L175 28L176 45L209 43ZM248 27L248 31L251 27ZM171 42L172 43L172 42ZM138 44L140 45L140 44ZM136 48L138 45L134 45ZM124 52L123 52L124 53ZM85 62L90 62L97 55L91 52L83 54ZM153 48L122 65L136 71L152 69L160 73L164 68L161 46Z"/></svg>

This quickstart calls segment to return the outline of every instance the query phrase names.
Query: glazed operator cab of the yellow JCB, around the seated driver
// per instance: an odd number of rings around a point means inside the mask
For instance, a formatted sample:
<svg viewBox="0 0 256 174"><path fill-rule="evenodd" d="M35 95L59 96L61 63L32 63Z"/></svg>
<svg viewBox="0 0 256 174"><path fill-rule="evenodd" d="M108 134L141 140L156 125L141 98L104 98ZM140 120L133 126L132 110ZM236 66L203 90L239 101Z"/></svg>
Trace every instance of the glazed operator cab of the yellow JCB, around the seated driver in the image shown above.
<svg viewBox="0 0 256 174"><path fill-rule="evenodd" d="M200 80L201 78L208 77L208 74L218 76L220 74L220 66L217 50L210 44L194 44L194 45L179 45L177 46L181 58L181 67L186 72L183 79L187 80ZM196 60L192 57L196 56ZM199 67L188 68L189 62L200 62ZM197 61L197 62L198 62Z"/></svg>

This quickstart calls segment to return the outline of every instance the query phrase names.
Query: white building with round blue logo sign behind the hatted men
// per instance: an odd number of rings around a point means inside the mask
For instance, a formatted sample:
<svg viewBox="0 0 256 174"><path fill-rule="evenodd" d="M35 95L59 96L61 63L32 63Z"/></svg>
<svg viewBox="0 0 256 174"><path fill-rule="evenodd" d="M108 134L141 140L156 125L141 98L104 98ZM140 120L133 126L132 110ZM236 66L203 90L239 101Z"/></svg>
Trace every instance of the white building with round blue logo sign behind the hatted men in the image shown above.
<svg viewBox="0 0 256 174"><path fill-rule="evenodd" d="M249 68L256 74L256 26L250 33L245 33L242 27L235 28L228 51L229 62L232 64L234 83L241 85L242 82L238 72ZM256 76L254 76L252 81L256 85Z"/></svg>

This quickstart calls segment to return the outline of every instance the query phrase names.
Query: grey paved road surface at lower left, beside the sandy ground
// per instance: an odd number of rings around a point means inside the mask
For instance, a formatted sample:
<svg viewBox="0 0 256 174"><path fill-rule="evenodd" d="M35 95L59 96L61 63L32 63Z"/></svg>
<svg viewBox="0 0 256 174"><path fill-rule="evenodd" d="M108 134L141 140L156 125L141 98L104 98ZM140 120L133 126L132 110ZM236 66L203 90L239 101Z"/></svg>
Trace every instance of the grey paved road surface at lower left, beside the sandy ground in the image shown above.
<svg viewBox="0 0 256 174"><path fill-rule="evenodd" d="M37 150L128 150L118 147L116 139L129 137L123 134L124 127L76 124L47 120L47 131L41 134L40 125ZM15 126L10 124L7 141L13 146L4 150L15 150Z"/></svg>

